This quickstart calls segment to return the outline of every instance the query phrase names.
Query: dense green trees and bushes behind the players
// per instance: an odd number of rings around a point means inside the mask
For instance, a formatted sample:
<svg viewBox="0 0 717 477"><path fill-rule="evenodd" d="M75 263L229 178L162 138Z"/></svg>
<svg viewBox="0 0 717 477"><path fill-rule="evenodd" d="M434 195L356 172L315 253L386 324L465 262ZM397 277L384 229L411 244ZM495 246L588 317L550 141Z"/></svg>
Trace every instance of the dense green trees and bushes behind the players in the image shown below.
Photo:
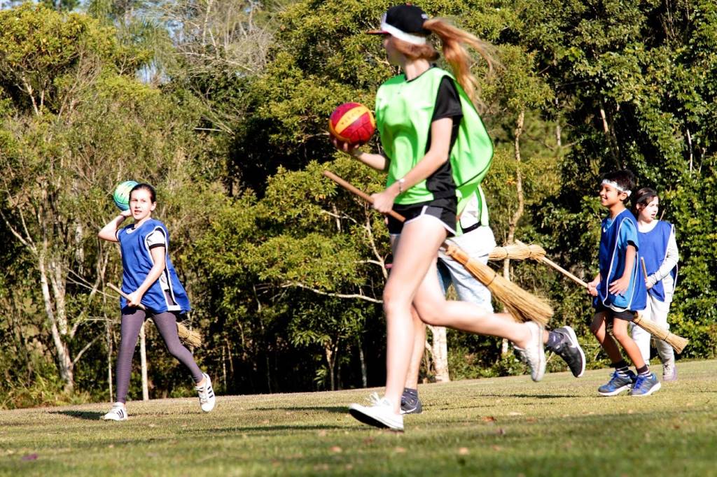
<svg viewBox="0 0 717 477"><path fill-rule="evenodd" d="M341 102L373 104L395 74L363 33L387 5L101 0L87 14L68 12L72 2L0 11L0 407L108 399L119 326L104 284L121 265L95 236L128 178L158 187L156 216L204 335L195 355L219 392L381 384L385 227L321 171L366 191L384 181L333 150L326 118ZM716 4L421 6L495 45L493 72L478 61L474 72L496 145L485 190L498 242L535 241L592 278L599 175L630 168L660 191L677 228L670 319L690 339L683 357L716 355ZM604 362L581 289L538 264L507 270L550 299L554 323L579 331L589 365ZM492 338L450 333L449 350L454 378L521 371ZM189 392L152 328L148 355L151 395Z"/></svg>

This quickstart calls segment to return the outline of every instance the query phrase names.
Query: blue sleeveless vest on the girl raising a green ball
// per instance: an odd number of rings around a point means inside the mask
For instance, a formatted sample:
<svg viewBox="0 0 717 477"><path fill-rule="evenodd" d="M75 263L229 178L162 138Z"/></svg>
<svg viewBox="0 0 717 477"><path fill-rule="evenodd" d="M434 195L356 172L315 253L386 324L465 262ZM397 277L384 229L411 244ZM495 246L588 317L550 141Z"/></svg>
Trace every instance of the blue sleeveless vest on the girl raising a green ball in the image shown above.
<svg viewBox="0 0 717 477"><path fill-rule="evenodd" d="M138 289L152 269L154 262L149 251L148 236L154 231L164 234L165 266L161 276L145 292L141 302L153 313L189 312L189 298L169 260L169 231L163 223L153 218L139 228L130 225L121 228L117 233L122 251L122 291L130 294ZM127 300L121 298L120 307L126 306Z"/></svg>

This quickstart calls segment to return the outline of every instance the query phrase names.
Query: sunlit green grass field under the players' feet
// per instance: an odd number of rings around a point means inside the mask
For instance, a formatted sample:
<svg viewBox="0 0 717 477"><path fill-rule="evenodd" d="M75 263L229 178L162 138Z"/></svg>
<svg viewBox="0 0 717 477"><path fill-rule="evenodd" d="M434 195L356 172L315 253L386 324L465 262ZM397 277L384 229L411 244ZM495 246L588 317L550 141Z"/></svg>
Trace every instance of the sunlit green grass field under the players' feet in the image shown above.
<svg viewBox="0 0 717 477"><path fill-rule="evenodd" d="M643 398L597 396L609 370L422 385L405 433L346 413L369 390L4 411L0 474L717 476L717 361L678 370Z"/></svg>

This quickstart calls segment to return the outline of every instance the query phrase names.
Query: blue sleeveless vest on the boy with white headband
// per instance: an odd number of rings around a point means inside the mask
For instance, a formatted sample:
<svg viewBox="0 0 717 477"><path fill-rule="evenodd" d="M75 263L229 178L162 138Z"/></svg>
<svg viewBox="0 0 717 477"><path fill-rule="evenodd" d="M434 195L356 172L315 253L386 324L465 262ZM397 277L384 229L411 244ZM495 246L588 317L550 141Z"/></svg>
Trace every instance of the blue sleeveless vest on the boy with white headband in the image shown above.
<svg viewBox="0 0 717 477"><path fill-rule="evenodd" d="M635 264L630 271L630 284L624 295L610 294L609 284L619 279L625 271L625 252L629 242L633 242L637 248ZM645 277L642 276L640 267L640 242L637 236L637 221L632 213L625 209L617 217L604 218L602 221L602 233L600 234L600 252L598 256L600 266L600 277L602 280L597 286L597 297L593 300L593 306L603 304L605 307L615 311L630 310L639 312L647 306L647 291L645 288Z"/></svg>

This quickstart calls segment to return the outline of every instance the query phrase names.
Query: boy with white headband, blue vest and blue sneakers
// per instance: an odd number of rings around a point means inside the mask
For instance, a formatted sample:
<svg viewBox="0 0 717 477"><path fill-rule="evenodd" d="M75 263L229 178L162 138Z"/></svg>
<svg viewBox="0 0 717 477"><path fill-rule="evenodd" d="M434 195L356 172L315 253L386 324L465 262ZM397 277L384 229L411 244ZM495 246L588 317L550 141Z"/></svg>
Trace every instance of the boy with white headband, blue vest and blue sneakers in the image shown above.
<svg viewBox="0 0 717 477"><path fill-rule="evenodd" d="M627 324L647 303L645 277L639 266L637 222L625 207L633 187L632 173L617 170L604 175L599 193L600 204L607 207L609 216L603 219L600 233L600 271L588 284L588 293L595 297L590 331L615 368L612 379L597 390L603 396L618 395L625 390L630 390L633 396L647 396L660 389L660 382L650 372L640 348L627 331ZM628 370L617 343L607 332L608 322L612 322L612 334L635 365L637 375Z"/></svg>

